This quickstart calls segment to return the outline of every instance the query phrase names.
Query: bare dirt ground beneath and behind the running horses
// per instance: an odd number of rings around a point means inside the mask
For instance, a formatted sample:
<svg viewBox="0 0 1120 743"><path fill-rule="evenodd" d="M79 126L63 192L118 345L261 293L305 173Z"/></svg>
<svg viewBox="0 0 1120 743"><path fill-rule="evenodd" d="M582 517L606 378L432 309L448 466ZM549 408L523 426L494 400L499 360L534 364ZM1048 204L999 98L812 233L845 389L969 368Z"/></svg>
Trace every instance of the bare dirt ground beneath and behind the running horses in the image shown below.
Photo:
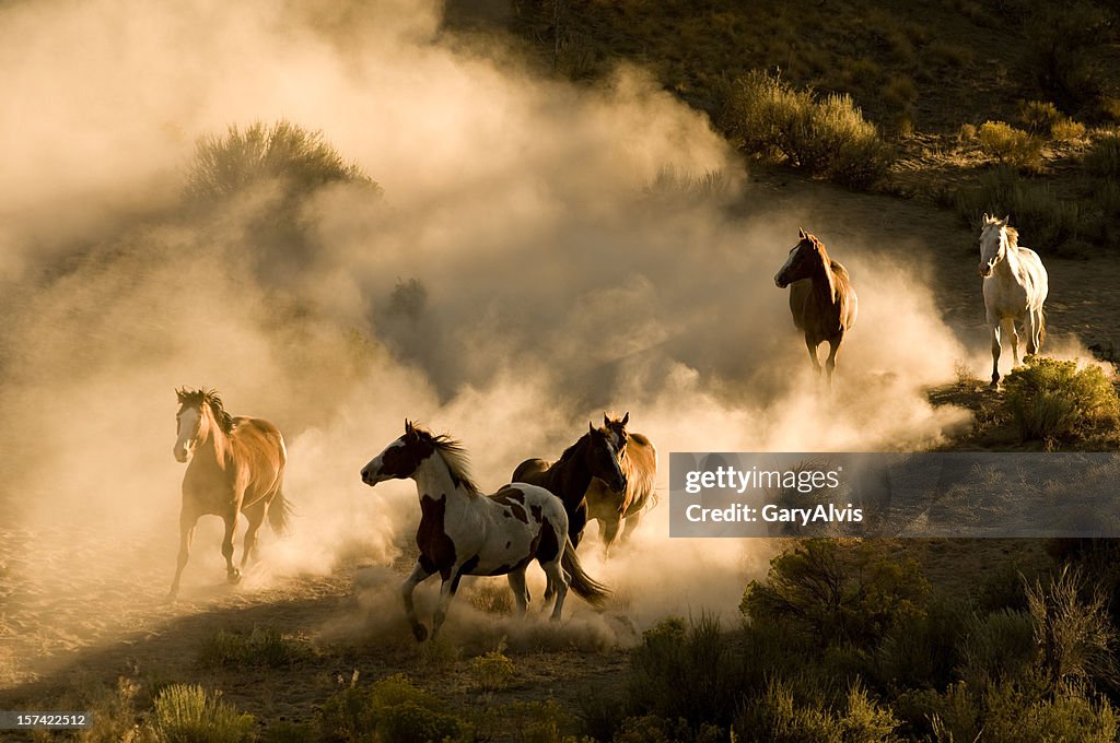
<svg viewBox="0 0 1120 743"><path fill-rule="evenodd" d="M914 260L928 265L944 298L945 320L969 348L987 346L976 233L954 215L791 177L771 177L753 189L773 198L776 208L815 204L816 224L806 227L825 234L831 244L859 236L885 256L907 260L906 251L916 253ZM824 210L822 204L828 205ZM1072 337L1083 346L1120 341L1120 262L1110 256L1055 258L1043 246L1038 250L1051 275L1051 337L1063 344ZM588 689L617 687L626 648L640 637L627 605L608 608L599 621L609 631L597 631L586 619L589 610L572 600L577 619L556 628L532 618L528 631L501 614L488 622L459 621L452 610L447 637L437 646L417 646L395 598L403 562L391 568L352 564L326 576L258 580L250 574L242 585L227 586L218 582L224 575L216 543L202 538L185 595L169 603L165 593L174 549L172 534L129 540L74 526L36 533L0 528L0 709L81 702L91 689L115 688L119 679L149 687L175 680L221 688L227 700L265 725L310 721L355 670L367 679L403 671L466 707L549 698L570 705ZM950 548L955 557L942 561L940 549L927 552L933 555L930 570L943 564L946 572L960 573L962 551ZM972 547L963 552L978 556ZM164 559L133 557L151 554ZM88 565L87 573L53 570L75 562ZM476 609L486 600L483 592L472 598L470 589L458 599ZM277 628L308 652L280 669L199 662L200 648L220 630L253 627ZM468 661L503 643L514 661L514 683L479 695ZM510 735L498 731L495 740Z"/></svg>

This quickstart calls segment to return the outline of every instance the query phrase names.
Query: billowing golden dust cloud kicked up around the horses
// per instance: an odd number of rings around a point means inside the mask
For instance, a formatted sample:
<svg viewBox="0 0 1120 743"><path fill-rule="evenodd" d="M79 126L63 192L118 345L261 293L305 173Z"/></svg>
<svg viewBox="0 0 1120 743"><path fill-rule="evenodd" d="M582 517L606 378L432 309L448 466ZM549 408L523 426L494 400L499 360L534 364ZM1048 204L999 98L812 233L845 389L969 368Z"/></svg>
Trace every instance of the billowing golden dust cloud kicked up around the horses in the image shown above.
<svg viewBox="0 0 1120 743"><path fill-rule="evenodd" d="M643 72L547 81L447 38L438 8L0 9L0 94L16 102L0 111L0 459L16 528L134 537L137 573L121 580L166 591L180 385L217 387L233 414L287 435L298 518L286 540L263 537L273 576L401 555L412 483L370 490L357 472L405 416L461 439L487 490L605 408L629 411L666 468L673 450L913 449L960 424L922 393L963 351L913 260L833 244L812 204L698 187L741 164ZM178 201L196 138L281 117L321 129L385 191L308 196L298 256L253 232L267 189L202 216ZM773 283L800 225L860 298L831 396ZM735 615L767 547L670 542L666 519L654 511L607 563L589 551L622 609L596 620L572 598L588 636ZM188 592L222 577L207 528ZM99 570L59 549L60 573Z"/></svg>

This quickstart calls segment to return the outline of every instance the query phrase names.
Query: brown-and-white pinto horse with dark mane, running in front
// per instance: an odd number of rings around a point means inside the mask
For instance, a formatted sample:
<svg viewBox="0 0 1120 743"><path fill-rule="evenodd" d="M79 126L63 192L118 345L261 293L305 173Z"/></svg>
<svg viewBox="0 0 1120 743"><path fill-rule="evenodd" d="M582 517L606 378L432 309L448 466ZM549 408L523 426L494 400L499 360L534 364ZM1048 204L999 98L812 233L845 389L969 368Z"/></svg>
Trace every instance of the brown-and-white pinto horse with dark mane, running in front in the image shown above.
<svg viewBox="0 0 1120 743"><path fill-rule="evenodd" d="M463 446L409 421L404 422L404 435L362 468L362 481L371 487L405 478L416 481L420 496L420 557L401 594L418 641L427 639L428 630L417 619L412 592L436 573L442 585L432 638L439 633L464 575L507 575L522 615L529 604L525 568L533 559L548 576L545 601L556 595L553 620L560 619L569 585L592 605L608 598L606 587L588 577L576 557L563 504L544 488L517 482L484 496L470 479Z"/></svg>

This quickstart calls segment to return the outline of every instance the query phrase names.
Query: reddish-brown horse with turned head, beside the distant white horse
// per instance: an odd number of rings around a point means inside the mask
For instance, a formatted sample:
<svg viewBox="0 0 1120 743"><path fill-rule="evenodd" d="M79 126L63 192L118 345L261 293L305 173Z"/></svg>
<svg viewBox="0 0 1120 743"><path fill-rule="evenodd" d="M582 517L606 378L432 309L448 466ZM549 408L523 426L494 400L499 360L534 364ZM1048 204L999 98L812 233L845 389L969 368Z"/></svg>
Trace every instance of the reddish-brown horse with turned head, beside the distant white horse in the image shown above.
<svg viewBox="0 0 1120 743"><path fill-rule="evenodd" d="M837 354L844 333L856 323L859 301L848 270L829 257L824 244L804 229L799 231L799 236L800 242L790 251L790 258L774 276L774 283L778 289L790 286L793 323L805 333L809 358L818 374L821 364L816 347L828 341L825 368L831 387Z"/></svg>

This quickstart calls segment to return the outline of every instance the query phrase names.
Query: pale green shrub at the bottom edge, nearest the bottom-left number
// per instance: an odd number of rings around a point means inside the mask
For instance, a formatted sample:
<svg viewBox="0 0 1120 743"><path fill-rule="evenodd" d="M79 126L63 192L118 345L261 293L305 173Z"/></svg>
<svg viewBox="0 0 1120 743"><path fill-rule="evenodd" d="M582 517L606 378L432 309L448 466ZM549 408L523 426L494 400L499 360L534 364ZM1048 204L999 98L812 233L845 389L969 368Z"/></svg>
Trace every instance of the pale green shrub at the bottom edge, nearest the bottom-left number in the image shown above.
<svg viewBox="0 0 1120 743"><path fill-rule="evenodd" d="M152 726L160 743L241 743L253 740L256 721L217 692L172 684L156 697Z"/></svg>

